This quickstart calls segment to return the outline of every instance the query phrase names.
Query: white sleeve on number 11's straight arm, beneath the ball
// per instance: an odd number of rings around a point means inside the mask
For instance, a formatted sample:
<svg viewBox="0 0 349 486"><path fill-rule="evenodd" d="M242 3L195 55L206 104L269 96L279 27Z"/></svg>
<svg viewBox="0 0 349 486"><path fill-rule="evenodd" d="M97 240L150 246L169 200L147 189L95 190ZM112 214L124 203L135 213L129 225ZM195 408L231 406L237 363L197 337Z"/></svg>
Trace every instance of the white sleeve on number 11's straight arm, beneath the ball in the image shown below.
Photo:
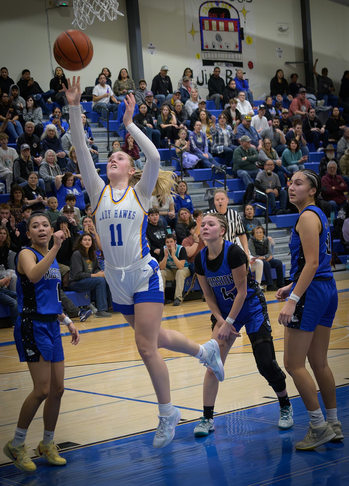
<svg viewBox="0 0 349 486"><path fill-rule="evenodd" d="M70 130L76 150L83 185L90 196L92 210L96 207L98 197L104 189L104 181L96 172L90 151L86 145L80 105L69 106ZM95 204L96 203L96 204Z"/></svg>

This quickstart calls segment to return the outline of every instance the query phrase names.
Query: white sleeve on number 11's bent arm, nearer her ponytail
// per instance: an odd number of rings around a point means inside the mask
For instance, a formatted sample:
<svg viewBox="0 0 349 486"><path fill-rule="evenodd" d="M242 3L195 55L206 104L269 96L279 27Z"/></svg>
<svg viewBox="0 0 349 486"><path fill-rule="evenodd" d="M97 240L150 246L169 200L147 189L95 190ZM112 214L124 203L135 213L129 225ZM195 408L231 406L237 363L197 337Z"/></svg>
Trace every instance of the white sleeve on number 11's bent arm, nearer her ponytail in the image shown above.
<svg viewBox="0 0 349 486"><path fill-rule="evenodd" d="M127 125L126 130L130 132L132 137L139 145L139 148L147 157L147 163L144 166L141 180L137 182L134 189L142 194L146 199L150 199L159 175L160 154L152 141L143 132L141 132L141 130L137 128L134 123Z"/></svg>

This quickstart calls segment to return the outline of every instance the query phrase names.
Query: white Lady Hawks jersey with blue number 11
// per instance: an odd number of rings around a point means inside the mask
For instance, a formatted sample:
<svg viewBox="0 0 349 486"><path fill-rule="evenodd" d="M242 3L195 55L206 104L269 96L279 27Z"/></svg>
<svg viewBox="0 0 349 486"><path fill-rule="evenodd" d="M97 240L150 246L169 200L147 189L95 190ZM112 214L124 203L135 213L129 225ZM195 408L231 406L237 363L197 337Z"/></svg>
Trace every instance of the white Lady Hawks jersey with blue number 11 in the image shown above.
<svg viewBox="0 0 349 486"><path fill-rule="evenodd" d="M132 187L105 186L93 211L105 261L125 268L144 258L150 247L146 239L149 200L142 203ZM147 211L143 208L147 208Z"/></svg>

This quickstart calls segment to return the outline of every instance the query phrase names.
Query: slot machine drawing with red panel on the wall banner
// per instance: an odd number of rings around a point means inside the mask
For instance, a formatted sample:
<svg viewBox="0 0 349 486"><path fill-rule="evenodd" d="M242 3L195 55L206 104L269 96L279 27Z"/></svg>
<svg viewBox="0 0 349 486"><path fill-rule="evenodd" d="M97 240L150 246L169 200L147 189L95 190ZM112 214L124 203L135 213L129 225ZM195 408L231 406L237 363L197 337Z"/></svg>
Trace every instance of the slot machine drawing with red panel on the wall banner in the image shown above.
<svg viewBox="0 0 349 486"><path fill-rule="evenodd" d="M199 7L203 66L243 67L240 16L230 3L206 1Z"/></svg>

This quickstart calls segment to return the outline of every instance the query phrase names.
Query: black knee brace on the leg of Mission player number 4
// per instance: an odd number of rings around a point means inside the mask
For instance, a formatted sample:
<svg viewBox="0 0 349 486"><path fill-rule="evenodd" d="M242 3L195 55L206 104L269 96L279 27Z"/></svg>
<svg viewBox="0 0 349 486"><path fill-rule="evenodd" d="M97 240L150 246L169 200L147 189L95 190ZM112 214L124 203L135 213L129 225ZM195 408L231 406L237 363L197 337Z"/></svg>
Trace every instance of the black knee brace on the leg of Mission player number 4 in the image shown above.
<svg viewBox="0 0 349 486"><path fill-rule="evenodd" d="M268 343L269 346L261 346L263 343ZM258 371L275 392L282 392L286 386L286 375L276 361L273 338L257 337L251 344Z"/></svg>

